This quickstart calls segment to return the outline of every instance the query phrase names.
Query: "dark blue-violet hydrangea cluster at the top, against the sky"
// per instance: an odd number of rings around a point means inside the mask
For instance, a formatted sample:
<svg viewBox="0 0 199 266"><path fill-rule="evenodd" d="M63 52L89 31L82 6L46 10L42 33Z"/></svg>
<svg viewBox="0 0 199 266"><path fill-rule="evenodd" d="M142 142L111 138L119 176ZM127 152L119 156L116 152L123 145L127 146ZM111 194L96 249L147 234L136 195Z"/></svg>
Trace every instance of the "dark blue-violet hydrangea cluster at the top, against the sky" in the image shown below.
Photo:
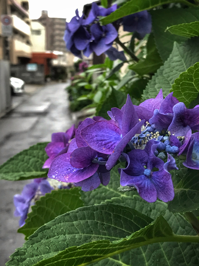
<svg viewBox="0 0 199 266"><path fill-rule="evenodd" d="M82 53L89 57L92 52L95 52L98 56L106 53L111 60L126 61L124 52L119 52L112 47L113 41L118 37L115 26L111 23L101 26L99 23L99 16L108 16L116 9L116 4L106 9L93 2L87 18L84 14L80 17L78 10L76 10L76 16L70 22L66 22L63 37L66 48L80 58L82 58ZM152 28L151 16L146 10L125 16L115 25L121 23L124 31L137 32L139 38L143 38L146 33L150 33Z"/></svg>

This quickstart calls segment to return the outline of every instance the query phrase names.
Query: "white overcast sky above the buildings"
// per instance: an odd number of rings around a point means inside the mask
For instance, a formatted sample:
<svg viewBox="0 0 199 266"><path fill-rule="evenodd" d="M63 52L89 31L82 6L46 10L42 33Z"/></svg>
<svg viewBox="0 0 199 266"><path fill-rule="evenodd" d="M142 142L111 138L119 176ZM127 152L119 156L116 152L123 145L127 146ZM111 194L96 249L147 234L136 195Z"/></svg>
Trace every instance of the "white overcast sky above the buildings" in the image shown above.
<svg viewBox="0 0 199 266"><path fill-rule="evenodd" d="M92 3L92 0L29 0L30 19L37 19L41 16L41 10L47 10L51 18L66 18L69 22L75 16L78 8L81 14L83 6Z"/></svg>

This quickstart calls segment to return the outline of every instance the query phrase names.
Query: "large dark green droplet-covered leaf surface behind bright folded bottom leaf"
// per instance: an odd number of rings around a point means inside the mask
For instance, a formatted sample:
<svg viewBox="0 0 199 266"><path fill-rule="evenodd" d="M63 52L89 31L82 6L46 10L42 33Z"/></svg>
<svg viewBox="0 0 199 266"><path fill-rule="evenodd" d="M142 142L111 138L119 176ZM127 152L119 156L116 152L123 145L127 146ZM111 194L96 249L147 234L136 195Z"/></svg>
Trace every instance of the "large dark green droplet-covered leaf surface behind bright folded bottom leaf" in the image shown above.
<svg viewBox="0 0 199 266"><path fill-rule="evenodd" d="M152 219L146 215L123 206L81 207L40 227L22 248L16 250L7 265L31 266L71 246L100 239L120 240L151 222Z"/></svg>

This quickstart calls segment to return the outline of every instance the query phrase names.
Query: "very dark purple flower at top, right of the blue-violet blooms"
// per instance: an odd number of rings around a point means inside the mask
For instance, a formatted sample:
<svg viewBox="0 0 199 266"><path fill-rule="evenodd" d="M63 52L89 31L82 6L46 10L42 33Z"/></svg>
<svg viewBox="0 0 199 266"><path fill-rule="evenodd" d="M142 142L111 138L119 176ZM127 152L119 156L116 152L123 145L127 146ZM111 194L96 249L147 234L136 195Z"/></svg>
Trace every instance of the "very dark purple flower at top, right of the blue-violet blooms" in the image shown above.
<svg viewBox="0 0 199 266"><path fill-rule="evenodd" d="M144 35L151 32L152 19L148 11L144 10L132 15L123 17L123 29L129 32L138 32Z"/></svg>

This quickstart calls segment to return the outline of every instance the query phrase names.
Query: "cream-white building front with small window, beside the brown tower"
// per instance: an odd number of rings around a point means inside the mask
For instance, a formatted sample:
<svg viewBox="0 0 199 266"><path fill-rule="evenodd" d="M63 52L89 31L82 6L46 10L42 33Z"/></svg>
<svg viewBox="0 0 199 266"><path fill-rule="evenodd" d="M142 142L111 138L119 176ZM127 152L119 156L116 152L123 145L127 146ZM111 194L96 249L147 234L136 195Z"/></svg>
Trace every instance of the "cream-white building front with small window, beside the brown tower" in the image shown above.
<svg viewBox="0 0 199 266"><path fill-rule="evenodd" d="M37 31L38 35L36 35ZM46 52L46 30L38 21L31 22L31 43L33 53Z"/></svg>

